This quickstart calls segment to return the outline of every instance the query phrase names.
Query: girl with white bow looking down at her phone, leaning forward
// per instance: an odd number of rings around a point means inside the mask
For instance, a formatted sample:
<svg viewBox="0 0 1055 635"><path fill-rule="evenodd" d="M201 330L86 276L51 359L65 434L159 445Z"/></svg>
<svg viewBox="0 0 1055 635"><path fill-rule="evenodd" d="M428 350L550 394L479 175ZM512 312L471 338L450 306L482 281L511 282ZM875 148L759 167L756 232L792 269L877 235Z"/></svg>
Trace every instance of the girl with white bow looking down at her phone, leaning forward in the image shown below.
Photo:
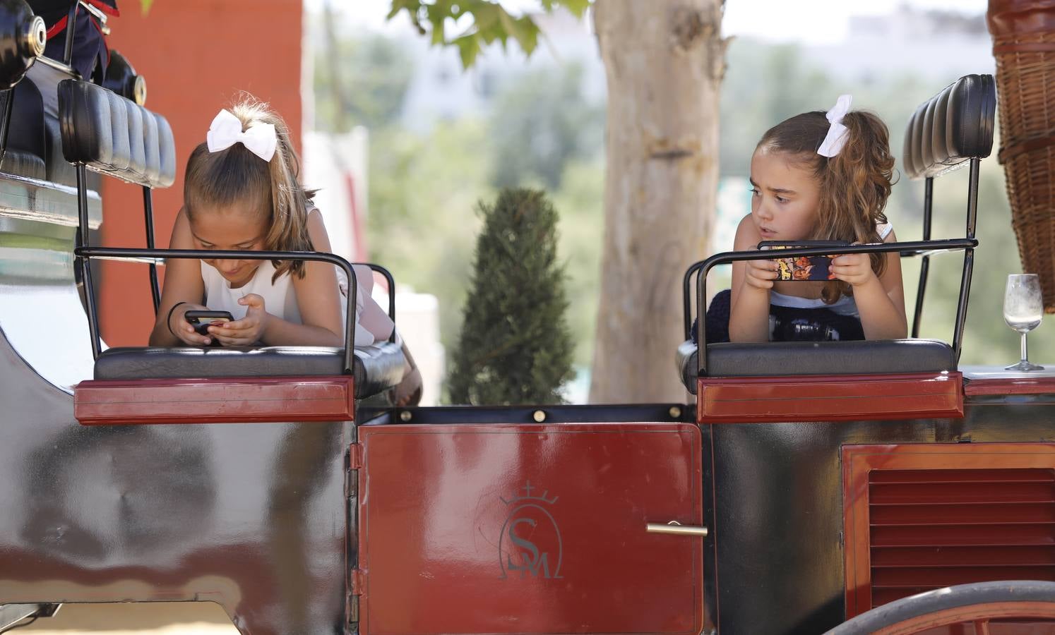
<svg viewBox="0 0 1055 635"><path fill-rule="evenodd" d="M173 249L330 251L322 214L298 180L285 122L247 99L223 110L187 161ZM357 346L386 340L394 325L370 297L372 274L356 267ZM330 264L302 261L171 259L153 346L343 346L347 281ZM230 311L234 321L195 332L184 313ZM411 371L416 373L415 370ZM420 382L420 380L419 380Z"/></svg>

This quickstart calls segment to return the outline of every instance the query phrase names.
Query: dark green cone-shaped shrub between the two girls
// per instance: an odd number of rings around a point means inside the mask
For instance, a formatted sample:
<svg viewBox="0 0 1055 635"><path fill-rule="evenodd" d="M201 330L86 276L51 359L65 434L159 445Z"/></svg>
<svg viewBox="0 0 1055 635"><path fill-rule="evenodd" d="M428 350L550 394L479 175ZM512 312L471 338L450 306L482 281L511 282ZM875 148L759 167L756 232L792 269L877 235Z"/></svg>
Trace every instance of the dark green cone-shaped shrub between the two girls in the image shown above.
<svg viewBox="0 0 1055 635"><path fill-rule="evenodd" d="M543 192L502 190L480 203L483 229L450 401L473 405L561 403L572 378L564 271L557 261L557 212Z"/></svg>

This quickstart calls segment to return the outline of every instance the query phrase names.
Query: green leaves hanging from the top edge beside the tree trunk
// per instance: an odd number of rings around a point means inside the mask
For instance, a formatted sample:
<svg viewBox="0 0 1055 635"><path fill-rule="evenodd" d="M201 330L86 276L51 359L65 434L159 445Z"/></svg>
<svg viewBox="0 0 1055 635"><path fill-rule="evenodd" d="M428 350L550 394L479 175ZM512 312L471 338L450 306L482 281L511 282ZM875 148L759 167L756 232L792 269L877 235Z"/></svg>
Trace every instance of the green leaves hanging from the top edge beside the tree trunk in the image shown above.
<svg viewBox="0 0 1055 635"><path fill-rule="evenodd" d="M563 6L581 18L592 0L542 0L545 11ZM496 0L392 0L388 19L405 11L421 35L431 30L435 45L454 45L461 55L462 66L468 69L484 46L501 42L504 49L512 38L524 53L531 55L538 45L538 24L530 15L515 17ZM467 26L448 35L459 25ZM427 24L427 27L426 27Z"/></svg>

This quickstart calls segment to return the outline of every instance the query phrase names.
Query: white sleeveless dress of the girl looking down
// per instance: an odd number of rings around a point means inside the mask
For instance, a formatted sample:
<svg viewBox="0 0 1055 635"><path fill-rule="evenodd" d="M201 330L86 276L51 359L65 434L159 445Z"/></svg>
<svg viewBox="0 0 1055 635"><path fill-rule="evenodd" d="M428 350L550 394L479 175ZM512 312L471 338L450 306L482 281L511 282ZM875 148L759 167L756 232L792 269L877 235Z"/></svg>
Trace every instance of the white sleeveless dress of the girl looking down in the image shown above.
<svg viewBox="0 0 1055 635"><path fill-rule="evenodd" d="M264 309L274 315L292 322L303 324L301 310L296 305L296 290L293 288L292 278L289 273L283 273L274 283L271 277L274 275L274 265L271 261L264 261L256 268L253 277L245 285L232 289L231 283L227 282L219 271L212 265L202 263L202 282L205 283L205 305L214 311L230 311L235 320L246 316L247 307L238 304L238 300L256 293L264 299ZM369 267L353 265L356 272L358 292L356 293L356 346L369 346L375 342L387 340L391 334L394 325L387 313L378 306L378 303L370 296L373 288L373 273ZM347 315L348 282L344 271L337 270L338 289L341 300L341 319Z"/></svg>

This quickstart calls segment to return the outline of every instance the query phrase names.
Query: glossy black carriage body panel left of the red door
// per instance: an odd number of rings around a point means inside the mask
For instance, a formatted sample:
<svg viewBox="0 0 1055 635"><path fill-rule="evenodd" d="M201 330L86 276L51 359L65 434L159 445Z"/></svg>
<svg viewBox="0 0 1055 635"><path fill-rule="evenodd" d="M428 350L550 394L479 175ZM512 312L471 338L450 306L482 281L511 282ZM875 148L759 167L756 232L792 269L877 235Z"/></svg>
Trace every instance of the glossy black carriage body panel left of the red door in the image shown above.
<svg viewBox="0 0 1055 635"><path fill-rule="evenodd" d="M344 632L350 424L82 427L2 338L0 404L0 604L214 600L244 633Z"/></svg>

